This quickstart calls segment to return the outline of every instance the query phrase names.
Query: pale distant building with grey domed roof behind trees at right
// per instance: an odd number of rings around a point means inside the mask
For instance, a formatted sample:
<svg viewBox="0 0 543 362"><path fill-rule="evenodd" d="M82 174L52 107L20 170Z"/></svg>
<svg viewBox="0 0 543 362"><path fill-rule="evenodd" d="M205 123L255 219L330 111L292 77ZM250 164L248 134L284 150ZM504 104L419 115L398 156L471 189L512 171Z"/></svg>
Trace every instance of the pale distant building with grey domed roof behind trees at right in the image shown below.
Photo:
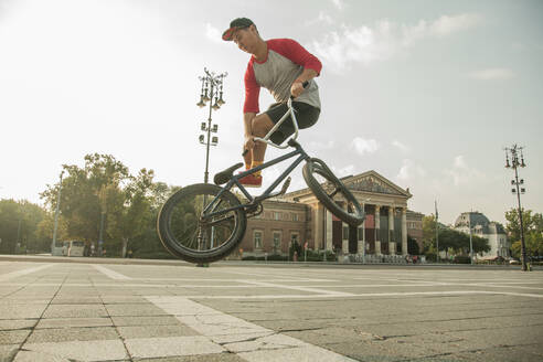
<svg viewBox="0 0 543 362"><path fill-rule="evenodd" d="M490 245L490 252L479 253L482 257L486 256L502 256L510 257L510 243L505 230L500 223L490 222L487 216L477 211L464 212L455 222L455 230L469 234L469 225L471 224L472 235L485 237Z"/></svg>

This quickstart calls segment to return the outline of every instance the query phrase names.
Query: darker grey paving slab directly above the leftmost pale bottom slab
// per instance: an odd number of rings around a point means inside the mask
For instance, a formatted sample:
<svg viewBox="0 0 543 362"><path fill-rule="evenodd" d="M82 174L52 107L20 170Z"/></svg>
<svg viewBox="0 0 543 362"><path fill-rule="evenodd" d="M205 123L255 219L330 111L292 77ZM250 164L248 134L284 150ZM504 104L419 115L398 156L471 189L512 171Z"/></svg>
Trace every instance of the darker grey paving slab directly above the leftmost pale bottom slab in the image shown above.
<svg viewBox="0 0 543 362"><path fill-rule="evenodd" d="M113 340L118 338L117 331L113 327L51 328L34 330L26 343Z"/></svg>

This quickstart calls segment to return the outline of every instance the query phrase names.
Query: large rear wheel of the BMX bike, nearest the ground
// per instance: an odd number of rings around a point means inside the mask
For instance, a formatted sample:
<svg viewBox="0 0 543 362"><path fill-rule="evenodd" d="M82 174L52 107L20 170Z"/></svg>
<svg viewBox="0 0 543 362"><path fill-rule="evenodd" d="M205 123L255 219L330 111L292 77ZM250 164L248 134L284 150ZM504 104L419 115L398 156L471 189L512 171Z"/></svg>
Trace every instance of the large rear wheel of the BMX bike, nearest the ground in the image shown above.
<svg viewBox="0 0 543 362"><path fill-rule="evenodd" d="M217 220L213 226L201 221L204 205L221 190L215 184L196 183L177 191L164 202L157 219L157 231L160 242L173 256L195 264L212 263L226 257L239 244L247 227L244 209L230 211L227 217L222 216L224 221ZM222 210L239 204L230 191L224 191L220 198Z"/></svg>

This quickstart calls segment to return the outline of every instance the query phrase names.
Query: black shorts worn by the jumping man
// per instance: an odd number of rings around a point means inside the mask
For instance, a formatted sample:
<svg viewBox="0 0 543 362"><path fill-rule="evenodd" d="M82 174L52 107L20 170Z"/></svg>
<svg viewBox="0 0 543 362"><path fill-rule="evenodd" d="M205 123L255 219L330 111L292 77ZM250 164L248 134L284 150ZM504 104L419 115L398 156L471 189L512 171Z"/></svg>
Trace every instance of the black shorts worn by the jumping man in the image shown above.
<svg viewBox="0 0 543 362"><path fill-rule="evenodd" d="M296 120L298 120L298 128L304 129L311 127L319 119L320 109L308 105L302 102L292 102L292 108L296 113ZM272 118L274 124L277 124L281 117L287 113L287 104L286 103L274 103L269 106L268 110L265 111L266 115ZM290 116L287 117L279 126L279 128L269 137L276 145L283 143L290 135L295 132L295 127L292 125L292 120Z"/></svg>

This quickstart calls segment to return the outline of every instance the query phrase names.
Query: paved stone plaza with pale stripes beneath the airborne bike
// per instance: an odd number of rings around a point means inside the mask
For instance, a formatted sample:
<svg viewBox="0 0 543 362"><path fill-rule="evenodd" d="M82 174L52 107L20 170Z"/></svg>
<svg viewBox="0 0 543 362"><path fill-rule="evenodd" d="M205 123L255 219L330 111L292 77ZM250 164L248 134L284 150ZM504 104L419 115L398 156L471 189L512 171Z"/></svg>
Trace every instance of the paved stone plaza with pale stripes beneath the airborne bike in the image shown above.
<svg viewBox="0 0 543 362"><path fill-rule="evenodd" d="M543 361L541 270L136 263L0 260L0 361Z"/></svg>

